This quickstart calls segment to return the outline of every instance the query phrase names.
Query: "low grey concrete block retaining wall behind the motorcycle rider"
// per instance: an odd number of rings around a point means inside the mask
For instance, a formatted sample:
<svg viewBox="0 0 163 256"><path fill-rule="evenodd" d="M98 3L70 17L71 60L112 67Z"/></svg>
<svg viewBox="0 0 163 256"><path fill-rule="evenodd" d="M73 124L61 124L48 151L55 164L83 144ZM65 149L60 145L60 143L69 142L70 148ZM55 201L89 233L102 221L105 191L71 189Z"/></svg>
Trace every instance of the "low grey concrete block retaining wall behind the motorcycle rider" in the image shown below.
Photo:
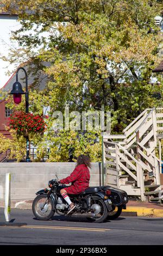
<svg viewBox="0 0 163 256"><path fill-rule="evenodd" d="M35 193L45 187L51 179L66 178L76 163L0 163L0 200L4 200L5 174L11 173L11 200L35 198ZM102 185L102 165L92 163L90 186Z"/></svg>

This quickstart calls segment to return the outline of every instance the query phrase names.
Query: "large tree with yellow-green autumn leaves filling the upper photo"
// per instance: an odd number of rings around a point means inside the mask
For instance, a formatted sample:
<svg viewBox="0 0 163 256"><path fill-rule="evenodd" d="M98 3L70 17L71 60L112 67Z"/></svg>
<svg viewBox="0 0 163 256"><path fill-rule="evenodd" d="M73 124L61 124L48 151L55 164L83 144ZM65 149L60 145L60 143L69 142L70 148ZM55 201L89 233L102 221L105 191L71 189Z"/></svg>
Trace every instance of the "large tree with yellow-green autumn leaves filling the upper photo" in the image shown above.
<svg viewBox="0 0 163 256"><path fill-rule="evenodd" d="M49 78L43 92L31 94L32 111L48 104L52 117L65 105L73 111L99 110L104 105L111 111L111 132L121 133L143 109L161 105L162 99L154 95L162 94L162 80L159 88L150 83L152 69L160 61L157 48L162 39L154 17L160 14L161 1L4 0L3 4L3 10L18 14L22 25L12 36L19 42L21 61L35 63ZM16 54L10 54L10 61Z"/></svg>

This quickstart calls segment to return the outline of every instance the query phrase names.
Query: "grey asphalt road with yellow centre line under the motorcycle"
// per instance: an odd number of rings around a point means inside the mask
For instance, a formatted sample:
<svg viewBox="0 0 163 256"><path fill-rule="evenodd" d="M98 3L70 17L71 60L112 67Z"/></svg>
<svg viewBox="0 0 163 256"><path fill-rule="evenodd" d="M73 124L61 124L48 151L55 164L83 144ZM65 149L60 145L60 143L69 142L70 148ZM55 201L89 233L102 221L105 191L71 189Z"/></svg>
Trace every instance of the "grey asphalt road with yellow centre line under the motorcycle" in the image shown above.
<svg viewBox="0 0 163 256"><path fill-rule="evenodd" d="M24 227L0 227L0 245L162 245L163 218L119 217L104 223L54 216L37 221L31 210L11 209ZM0 208L0 222L5 222Z"/></svg>

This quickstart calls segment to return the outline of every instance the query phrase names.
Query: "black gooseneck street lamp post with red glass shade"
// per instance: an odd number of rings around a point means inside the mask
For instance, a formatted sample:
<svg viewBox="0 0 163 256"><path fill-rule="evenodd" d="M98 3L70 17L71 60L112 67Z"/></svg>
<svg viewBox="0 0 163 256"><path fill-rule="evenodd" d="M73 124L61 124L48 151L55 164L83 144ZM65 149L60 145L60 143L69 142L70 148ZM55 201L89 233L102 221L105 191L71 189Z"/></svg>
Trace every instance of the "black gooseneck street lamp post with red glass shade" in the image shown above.
<svg viewBox="0 0 163 256"><path fill-rule="evenodd" d="M22 69L26 75L26 92L22 90L22 85L20 82L18 82L18 71ZM9 94L13 95L14 102L16 104L20 103L22 100L22 94L26 95L26 113L29 113L29 99L28 99L28 76L27 72L24 68L18 68L16 71L16 82L12 86L12 90ZM26 162L31 162L30 157L29 157L29 138L28 136L26 137L26 149L27 149L27 155L26 155Z"/></svg>

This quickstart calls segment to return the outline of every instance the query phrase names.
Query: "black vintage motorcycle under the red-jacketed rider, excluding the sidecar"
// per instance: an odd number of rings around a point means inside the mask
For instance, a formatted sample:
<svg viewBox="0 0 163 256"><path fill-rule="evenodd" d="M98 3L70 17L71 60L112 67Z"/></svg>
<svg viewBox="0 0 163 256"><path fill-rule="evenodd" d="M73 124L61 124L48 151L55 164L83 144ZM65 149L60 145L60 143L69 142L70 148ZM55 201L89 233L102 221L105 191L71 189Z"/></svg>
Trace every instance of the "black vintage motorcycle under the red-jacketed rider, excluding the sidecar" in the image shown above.
<svg viewBox="0 0 163 256"><path fill-rule="evenodd" d="M80 194L68 194L76 208L67 215L70 206L62 198L60 190L67 187L57 179L48 182L50 190L40 190L33 201L32 210L37 220L49 220L57 212L59 215L71 217L86 217L91 222L103 222L108 218L108 212L113 211L112 202L106 187L89 187Z"/></svg>

